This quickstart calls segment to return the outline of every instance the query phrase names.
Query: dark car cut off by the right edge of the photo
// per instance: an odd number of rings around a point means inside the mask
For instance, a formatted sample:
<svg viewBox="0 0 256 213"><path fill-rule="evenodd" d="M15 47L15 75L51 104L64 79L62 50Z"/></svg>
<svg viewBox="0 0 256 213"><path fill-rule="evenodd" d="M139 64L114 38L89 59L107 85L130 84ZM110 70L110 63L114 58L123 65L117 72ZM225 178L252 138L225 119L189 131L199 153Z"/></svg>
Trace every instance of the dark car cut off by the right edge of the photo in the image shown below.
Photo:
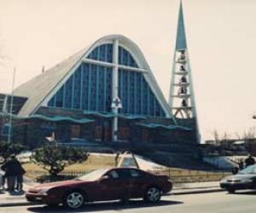
<svg viewBox="0 0 256 213"><path fill-rule="evenodd" d="M229 193L239 189L256 189L256 165L240 170L235 176L225 177L220 181L220 187Z"/></svg>

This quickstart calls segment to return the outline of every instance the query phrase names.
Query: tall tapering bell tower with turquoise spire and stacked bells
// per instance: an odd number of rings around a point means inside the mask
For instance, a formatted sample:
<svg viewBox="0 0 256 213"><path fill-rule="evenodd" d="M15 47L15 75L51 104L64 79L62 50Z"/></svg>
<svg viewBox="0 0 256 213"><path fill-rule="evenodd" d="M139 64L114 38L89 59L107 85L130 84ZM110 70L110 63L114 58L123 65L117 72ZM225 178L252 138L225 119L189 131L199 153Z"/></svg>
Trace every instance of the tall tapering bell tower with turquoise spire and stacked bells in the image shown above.
<svg viewBox="0 0 256 213"><path fill-rule="evenodd" d="M173 55L172 80L169 94L169 105L172 109L173 117L177 118L177 120L178 118L183 119L183 121L194 119L197 142L200 142L182 1L180 2L177 20L177 37Z"/></svg>

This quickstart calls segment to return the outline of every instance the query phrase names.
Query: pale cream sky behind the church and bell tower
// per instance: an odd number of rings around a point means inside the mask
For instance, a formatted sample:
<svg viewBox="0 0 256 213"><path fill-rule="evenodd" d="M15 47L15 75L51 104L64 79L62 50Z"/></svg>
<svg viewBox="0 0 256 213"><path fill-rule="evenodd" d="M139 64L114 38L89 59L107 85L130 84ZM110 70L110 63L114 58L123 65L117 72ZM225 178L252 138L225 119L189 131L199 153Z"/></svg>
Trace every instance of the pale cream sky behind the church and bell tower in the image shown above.
<svg viewBox="0 0 256 213"><path fill-rule="evenodd" d="M169 95L179 0L0 0L0 92L109 34L130 37ZM256 120L256 1L183 0L201 135Z"/></svg>

